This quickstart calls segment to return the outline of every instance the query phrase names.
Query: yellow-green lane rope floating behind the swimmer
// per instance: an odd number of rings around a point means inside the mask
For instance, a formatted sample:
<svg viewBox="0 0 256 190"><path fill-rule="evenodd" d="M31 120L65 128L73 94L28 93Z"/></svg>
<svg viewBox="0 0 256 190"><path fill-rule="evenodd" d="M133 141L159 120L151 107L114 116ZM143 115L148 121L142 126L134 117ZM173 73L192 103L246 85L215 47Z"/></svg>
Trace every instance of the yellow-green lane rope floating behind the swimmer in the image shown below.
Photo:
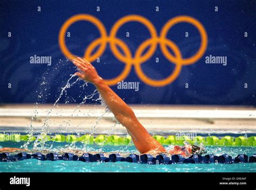
<svg viewBox="0 0 256 190"><path fill-rule="evenodd" d="M33 135L21 135L21 134L1 134L0 133L0 142L3 141L35 141L36 136ZM223 138L218 138L215 136L201 137L196 136L192 140L184 135L182 137L176 137L176 135L169 135L168 137L163 137L161 135L153 135L153 138L160 142L162 145L183 145L184 141L189 142L190 144L201 144L203 143L205 146L256 146L256 137L244 137L240 136L237 138L226 135ZM97 145L129 145L132 141L130 135L126 135L125 137L120 137L119 135L104 135L99 134L94 137L91 134L84 135L74 135L74 134L55 134L52 137L50 135L43 135L38 139L39 141L55 141L55 142L83 142L85 144L97 144Z"/></svg>

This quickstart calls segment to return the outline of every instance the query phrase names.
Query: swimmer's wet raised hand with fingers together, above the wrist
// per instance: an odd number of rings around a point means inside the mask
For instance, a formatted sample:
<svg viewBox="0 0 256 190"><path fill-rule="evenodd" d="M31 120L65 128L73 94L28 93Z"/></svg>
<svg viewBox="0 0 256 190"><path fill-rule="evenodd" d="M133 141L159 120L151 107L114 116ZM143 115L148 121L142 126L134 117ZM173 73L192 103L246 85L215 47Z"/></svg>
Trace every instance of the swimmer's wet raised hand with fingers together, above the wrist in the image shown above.
<svg viewBox="0 0 256 190"><path fill-rule="evenodd" d="M76 65L77 68L81 71L76 72L75 74L83 80L94 84L97 80L102 79L98 75L95 67L92 66L91 63L87 62L87 60L77 57L77 59L73 60L73 64Z"/></svg>

